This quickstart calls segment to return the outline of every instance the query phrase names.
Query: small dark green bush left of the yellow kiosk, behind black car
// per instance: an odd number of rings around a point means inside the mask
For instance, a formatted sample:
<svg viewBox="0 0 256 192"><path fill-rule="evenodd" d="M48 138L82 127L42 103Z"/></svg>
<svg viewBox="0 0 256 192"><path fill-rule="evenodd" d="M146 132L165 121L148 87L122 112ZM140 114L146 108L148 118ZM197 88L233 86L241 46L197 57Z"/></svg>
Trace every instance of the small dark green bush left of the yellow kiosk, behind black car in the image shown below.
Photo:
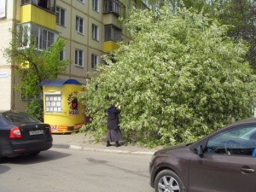
<svg viewBox="0 0 256 192"><path fill-rule="evenodd" d="M34 99L27 103L26 113L44 122L44 102L42 99Z"/></svg>

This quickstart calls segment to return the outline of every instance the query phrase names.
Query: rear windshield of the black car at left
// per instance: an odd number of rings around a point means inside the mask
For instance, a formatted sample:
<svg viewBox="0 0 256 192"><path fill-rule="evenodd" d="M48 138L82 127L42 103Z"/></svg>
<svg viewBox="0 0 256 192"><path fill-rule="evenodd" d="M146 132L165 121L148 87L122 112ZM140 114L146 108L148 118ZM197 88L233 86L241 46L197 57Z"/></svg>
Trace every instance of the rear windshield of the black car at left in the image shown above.
<svg viewBox="0 0 256 192"><path fill-rule="evenodd" d="M35 119L28 113L24 112L7 111L2 113L2 115L5 119L8 119L14 124L30 124L40 122L38 119Z"/></svg>

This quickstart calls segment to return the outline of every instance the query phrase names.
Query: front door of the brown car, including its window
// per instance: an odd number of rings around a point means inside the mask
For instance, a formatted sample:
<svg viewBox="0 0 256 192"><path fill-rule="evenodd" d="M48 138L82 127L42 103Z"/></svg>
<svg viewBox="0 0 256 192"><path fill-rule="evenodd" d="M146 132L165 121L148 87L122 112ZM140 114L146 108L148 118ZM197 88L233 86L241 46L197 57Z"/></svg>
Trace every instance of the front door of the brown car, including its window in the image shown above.
<svg viewBox="0 0 256 192"><path fill-rule="evenodd" d="M253 130L256 125L234 127L210 137L204 154L190 160L189 192L255 192L256 144L242 137Z"/></svg>

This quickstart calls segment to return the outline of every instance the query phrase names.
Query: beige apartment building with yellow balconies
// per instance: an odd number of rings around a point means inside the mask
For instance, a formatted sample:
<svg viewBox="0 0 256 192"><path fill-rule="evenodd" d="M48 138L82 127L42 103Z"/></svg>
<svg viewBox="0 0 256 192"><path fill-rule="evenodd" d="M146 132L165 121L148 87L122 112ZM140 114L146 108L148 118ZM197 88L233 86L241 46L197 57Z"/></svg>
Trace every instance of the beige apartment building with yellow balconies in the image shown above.
<svg viewBox="0 0 256 192"><path fill-rule="evenodd" d="M9 29L31 28L38 49L47 49L58 36L67 38L61 59L72 64L60 79L76 79L85 84L88 72L103 63L102 54L117 49L117 42L129 43L129 35L119 16L127 16L137 0L0 0L0 49L9 47ZM15 63L9 63L0 53L0 89L2 110L26 109L26 99L15 90L20 78L14 73Z"/></svg>

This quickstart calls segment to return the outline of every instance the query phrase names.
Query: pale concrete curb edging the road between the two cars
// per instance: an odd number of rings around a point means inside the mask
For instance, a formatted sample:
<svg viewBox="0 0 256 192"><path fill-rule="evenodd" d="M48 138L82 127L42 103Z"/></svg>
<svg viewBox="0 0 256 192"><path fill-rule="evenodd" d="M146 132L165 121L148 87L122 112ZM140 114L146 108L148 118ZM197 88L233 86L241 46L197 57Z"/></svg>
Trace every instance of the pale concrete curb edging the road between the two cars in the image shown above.
<svg viewBox="0 0 256 192"><path fill-rule="evenodd" d="M83 148L78 145L67 145L67 144L53 144L53 148L68 148L68 149L75 149L75 150L84 150L84 151L98 151L98 152L105 152L105 153L116 153L116 154L148 154L153 155L154 152L143 152L143 151L123 151L123 150L111 150L111 149L102 149L102 148Z"/></svg>

